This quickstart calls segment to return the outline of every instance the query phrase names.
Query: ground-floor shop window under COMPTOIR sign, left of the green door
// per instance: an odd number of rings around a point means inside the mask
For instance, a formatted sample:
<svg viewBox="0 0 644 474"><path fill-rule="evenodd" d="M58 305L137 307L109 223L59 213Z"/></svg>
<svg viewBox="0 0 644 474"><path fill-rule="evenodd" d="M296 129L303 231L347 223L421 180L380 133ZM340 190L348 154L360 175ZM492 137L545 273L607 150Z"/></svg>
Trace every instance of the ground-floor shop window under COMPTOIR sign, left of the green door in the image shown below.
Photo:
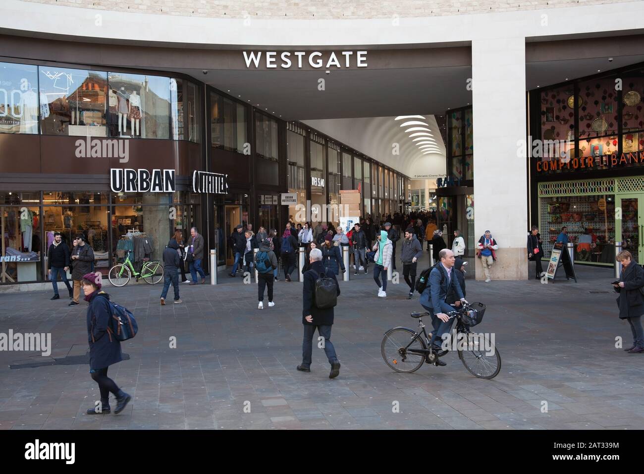
<svg viewBox="0 0 644 474"><path fill-rule="evenodd" d="M624 204L622 204L624 205ZM544 256L550 255L563 226L568 228L569 242L575 246L575 261L612 264L615 258L614 195L541 197L540 228ZM601 210L603 208L603 210ZM622 239L628 239L624 221L629 210L622 210ZM637 214L635 211L634 215ZM635 230L637 234L639 230Z"/></svg>

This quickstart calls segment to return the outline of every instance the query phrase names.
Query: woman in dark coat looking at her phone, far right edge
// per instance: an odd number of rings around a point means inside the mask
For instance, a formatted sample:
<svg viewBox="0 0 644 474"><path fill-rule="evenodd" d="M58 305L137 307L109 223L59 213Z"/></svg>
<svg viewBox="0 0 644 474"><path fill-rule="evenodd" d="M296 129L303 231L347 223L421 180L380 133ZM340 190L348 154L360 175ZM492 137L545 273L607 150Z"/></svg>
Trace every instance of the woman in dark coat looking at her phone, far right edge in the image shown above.
<svg viewBox="0 0 644 474"><path fill-rule="evenodd" d="M634 261L628 250L617 254L616 261L621 262L621 277L614 284L615 291L620 293L617 306L620 308L620 319L626 319L633 334L633 346L625 349L631 354L644 352L644 331L641 316L644 314L644 298L639 289L644 286L644 270Z"/></svg>

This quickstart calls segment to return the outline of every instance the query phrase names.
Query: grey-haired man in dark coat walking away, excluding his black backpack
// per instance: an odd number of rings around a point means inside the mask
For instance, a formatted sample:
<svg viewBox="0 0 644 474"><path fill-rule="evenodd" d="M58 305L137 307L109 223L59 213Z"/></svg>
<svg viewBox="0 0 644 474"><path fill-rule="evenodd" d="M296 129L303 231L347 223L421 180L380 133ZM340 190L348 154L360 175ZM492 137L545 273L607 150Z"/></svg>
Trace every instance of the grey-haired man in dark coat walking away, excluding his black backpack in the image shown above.
<svg viewBox="0 0 644 474"><path fill-rule="evenodd" d="M304 324L304 339L302 342L302 363L298 366L299 371L310 372L311 357L313 352L313 335L316 328L317 333L324 337L324 351L327 354L328 362L331 364L329 379L335 379L340 373L340 362L337 360L336 349L331 343L331 326L333 325L334 308L321 310L315 302L316 280L320 273L325 273L322 264L322 252L314 248L309 254L311 269L304 273L303 310L302 324ZM333 272L325 273L327 278L336 281L337 295L340 295L340 286L337 284L336 275Z"/></svg>

